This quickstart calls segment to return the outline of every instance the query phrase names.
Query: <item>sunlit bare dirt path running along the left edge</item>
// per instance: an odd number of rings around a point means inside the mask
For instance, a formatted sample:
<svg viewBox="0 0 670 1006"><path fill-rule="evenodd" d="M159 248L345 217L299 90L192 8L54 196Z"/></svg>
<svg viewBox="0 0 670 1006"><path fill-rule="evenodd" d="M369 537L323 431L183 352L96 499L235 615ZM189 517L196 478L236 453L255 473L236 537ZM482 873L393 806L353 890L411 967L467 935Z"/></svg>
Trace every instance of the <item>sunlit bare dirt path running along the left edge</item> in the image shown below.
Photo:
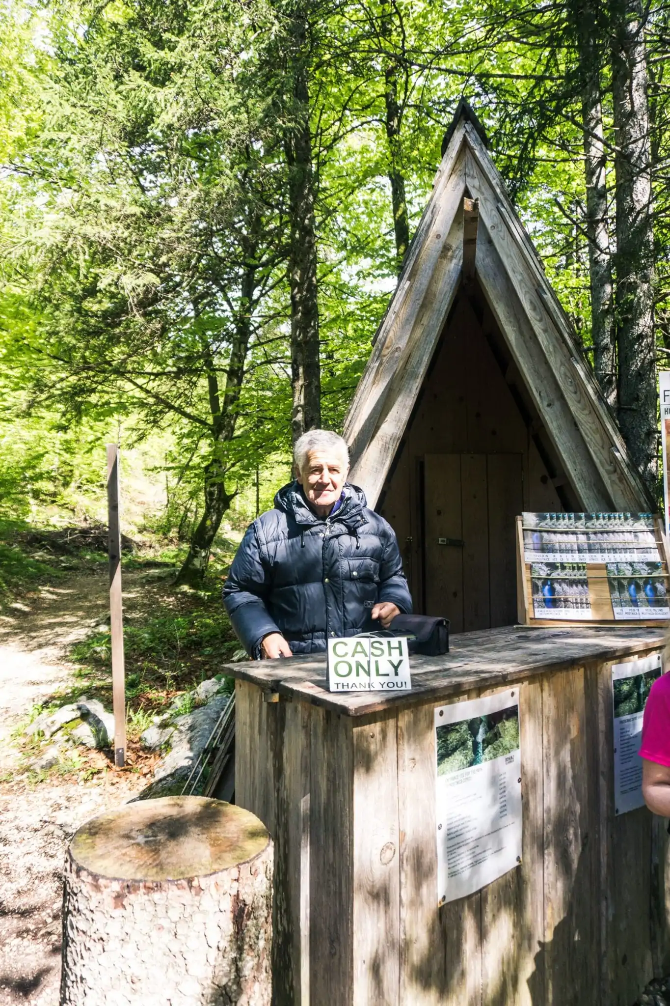
<svg viewBox="0 0 670 1006"><path fill-rule="evenodd" d="M132 596L132 574L126 585ZM11 777L19 764L12 730L67 682L65 650L104 621L106 604L104 568L44 588L0 616L0 777ZM143 785L111 772L86 784L57 777L33 786L0 783L0 1006L57 1006L67 842L84 821Z"/></svg>

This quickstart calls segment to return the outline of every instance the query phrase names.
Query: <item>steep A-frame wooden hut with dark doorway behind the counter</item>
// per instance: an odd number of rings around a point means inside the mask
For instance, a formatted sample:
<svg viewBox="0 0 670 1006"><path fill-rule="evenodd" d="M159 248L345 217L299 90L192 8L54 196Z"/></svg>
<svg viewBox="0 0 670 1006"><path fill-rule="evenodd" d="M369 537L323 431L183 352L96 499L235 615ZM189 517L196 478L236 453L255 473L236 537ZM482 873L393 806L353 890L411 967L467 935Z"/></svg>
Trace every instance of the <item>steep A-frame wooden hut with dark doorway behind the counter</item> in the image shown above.
<svg viewBox="0 0 670 1006"><path fill-rule="evenodd" d="M453 632L515 622L516 514L651 509L464 104L345 437Z"/></svg>

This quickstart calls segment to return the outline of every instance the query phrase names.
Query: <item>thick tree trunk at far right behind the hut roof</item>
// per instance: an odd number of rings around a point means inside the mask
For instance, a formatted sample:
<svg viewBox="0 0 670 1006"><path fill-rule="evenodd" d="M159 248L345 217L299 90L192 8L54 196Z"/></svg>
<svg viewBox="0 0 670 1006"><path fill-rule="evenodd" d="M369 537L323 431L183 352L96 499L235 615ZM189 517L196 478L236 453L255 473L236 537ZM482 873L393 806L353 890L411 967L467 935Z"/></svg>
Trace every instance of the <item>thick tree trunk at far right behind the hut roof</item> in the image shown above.
<svg viewBox="0 0 670 1006"><path fill-rule="evenodd" d="M612 16L618 413L631 458L655 498L654 235L644 22L638 0L618 0Z"/></svg>

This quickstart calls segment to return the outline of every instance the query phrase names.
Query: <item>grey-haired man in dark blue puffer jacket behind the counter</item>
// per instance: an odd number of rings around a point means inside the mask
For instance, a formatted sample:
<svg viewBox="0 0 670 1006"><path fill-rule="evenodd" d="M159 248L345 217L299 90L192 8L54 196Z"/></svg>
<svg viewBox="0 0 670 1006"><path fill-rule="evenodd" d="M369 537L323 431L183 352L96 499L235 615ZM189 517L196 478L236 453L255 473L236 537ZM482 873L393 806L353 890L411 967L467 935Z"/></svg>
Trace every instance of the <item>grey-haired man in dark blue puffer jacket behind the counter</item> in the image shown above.
<svg viewBox="0 0 670 1006"><path fill-rule="evenodd" d="M237 551L223 600L254 659L325 650L412 612L398 541L347 482L349 450L327 430L303 434L295 481L254 520Z"/></svg>

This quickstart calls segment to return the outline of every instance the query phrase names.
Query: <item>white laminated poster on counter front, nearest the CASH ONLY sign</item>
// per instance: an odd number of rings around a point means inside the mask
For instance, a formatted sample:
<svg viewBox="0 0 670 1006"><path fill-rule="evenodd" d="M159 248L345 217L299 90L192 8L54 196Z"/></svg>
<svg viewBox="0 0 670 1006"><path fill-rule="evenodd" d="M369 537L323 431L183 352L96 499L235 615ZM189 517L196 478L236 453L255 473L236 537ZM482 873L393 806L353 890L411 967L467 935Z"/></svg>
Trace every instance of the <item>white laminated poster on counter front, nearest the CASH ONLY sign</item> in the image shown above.
<svg viewBox="0 0 670 1006"><path fill-rule="evenodd" d="M435 709L438 902L521 862L518 688Z"/></svg>

